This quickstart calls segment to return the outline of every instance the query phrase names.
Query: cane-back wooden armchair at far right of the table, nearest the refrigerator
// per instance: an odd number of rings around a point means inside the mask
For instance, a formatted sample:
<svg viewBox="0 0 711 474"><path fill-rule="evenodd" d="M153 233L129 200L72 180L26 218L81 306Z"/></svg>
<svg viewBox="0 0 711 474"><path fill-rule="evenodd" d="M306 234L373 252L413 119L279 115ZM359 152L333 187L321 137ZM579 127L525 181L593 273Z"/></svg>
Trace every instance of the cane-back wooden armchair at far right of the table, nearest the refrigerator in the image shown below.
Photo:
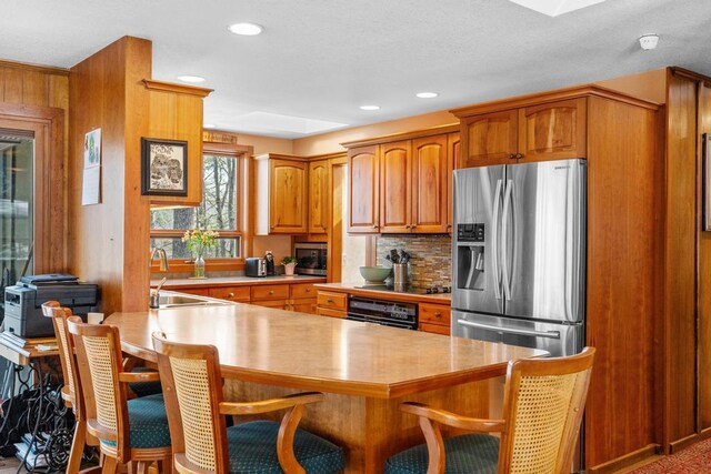
<svg viewBox="0 0 711 474"><path fill-rule="evenodd" d="M491 474L567 474L571 472L575 442L590 384L595 350L585 347L569 357L522 360L509 363L503 420L459 416L444 410L407 402L402 410L420 416L427 445L388 460L385 473L481 472ZM444 440L440 425L472 432ZM473 463L473 464L472 464Z"/></svg>

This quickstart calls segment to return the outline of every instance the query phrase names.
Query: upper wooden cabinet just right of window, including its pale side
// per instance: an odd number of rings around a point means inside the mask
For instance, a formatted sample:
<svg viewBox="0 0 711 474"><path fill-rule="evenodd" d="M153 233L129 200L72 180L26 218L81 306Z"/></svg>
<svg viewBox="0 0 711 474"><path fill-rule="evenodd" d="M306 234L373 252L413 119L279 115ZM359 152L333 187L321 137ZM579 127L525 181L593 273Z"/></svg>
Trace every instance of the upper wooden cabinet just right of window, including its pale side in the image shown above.
<svg viewBox="0 0 711 474"><path fill-rule="evenodd" d="M254 158L257 235L300 234L309 230L308 162L299 157Z"/></svg>

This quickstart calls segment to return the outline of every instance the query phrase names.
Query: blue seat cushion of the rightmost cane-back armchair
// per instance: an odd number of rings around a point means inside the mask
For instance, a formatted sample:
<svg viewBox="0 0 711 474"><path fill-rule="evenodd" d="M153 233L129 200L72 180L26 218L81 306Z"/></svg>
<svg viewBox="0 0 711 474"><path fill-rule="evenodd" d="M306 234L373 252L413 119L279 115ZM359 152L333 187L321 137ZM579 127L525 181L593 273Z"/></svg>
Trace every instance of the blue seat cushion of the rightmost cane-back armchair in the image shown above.
<svg viewBox="0 0 711 474"><path fill-rule="evenodd" d="M497 474L499 438L487 434L465 434L444 440L445 474ZM427 445L411 447L390 457L385 474L424 474Z"/></svg>

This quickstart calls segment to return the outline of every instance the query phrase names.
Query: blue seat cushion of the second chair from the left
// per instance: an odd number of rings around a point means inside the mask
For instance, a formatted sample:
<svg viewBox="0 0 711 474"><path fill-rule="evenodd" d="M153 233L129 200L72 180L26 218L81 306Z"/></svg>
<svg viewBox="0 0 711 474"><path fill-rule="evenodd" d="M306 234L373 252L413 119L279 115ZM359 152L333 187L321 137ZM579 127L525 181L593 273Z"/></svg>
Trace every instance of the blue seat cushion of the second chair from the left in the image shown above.
<svg viewBox="0 0 711 474"><path fill-rule="evenodd" d="M128 401L129 441L132 448L170 447L170 430L163 395L149 395ZM113 441L101 440L109 446Z"/></svg>

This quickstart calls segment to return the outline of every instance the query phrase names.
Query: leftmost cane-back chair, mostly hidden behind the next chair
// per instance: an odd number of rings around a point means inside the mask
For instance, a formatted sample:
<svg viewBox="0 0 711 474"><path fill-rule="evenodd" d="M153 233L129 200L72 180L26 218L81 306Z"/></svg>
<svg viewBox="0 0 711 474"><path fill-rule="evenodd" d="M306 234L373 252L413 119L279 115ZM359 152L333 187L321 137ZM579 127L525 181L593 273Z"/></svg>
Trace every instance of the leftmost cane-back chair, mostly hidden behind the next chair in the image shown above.
<svg viewBox="0 0 711 474"><path fill-rule="evenodd" d="M48 301L42 304L42 313L44 316L52 319L54 326L59 361L64 376L64 386L62 386L61 392L62 400L74 412L74 437L69 452L67 472L79 472L86 444L97 446L99 440L87 432L87 413L84 411L79 367L74 356L74 341L67 329L67 320L72 316L72 313L69 307L61 307L57 301Z"/></svg>

